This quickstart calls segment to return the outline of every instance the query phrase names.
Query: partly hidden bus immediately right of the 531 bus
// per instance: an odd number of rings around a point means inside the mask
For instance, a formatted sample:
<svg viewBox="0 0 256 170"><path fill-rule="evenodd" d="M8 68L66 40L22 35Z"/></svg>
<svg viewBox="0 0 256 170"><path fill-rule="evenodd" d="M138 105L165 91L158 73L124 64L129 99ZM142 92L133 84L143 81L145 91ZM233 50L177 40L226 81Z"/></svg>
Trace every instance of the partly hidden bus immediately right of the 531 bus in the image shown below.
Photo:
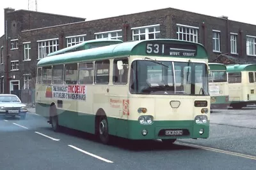
<svg viewBox="0 0 256 170"><path fill-rule="evenodd" d="M227 109L228 98L227 67L220 63L209 63L209 93L212 109Z"/></svg>

